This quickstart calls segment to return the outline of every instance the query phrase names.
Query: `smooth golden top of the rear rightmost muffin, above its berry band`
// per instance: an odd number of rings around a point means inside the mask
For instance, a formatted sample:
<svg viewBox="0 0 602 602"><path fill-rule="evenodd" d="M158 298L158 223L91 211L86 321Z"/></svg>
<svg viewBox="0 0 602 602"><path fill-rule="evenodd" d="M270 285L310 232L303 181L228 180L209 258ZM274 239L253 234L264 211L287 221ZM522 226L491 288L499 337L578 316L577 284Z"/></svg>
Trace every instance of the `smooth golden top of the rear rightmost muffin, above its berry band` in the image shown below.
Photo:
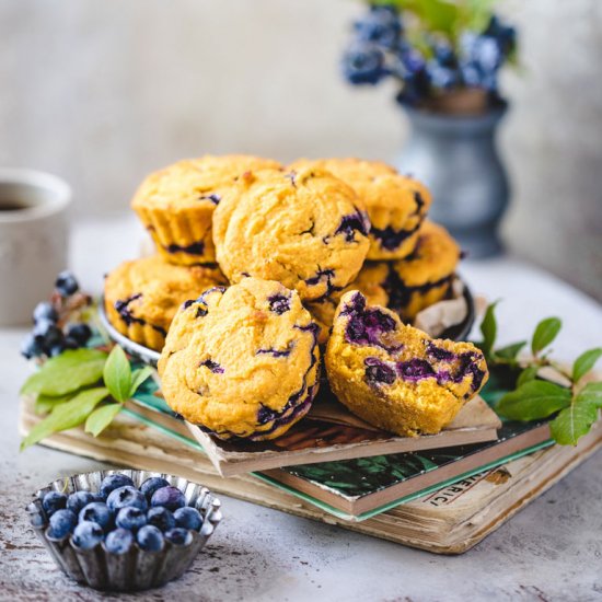
<svg viewBox="0 0 602 602"><path fill-rule="evenodd" d="M426 220L412 255L394 262L392 269L406 287L437 282L452 275L460 262L461 250L442 227Z"/></svg>

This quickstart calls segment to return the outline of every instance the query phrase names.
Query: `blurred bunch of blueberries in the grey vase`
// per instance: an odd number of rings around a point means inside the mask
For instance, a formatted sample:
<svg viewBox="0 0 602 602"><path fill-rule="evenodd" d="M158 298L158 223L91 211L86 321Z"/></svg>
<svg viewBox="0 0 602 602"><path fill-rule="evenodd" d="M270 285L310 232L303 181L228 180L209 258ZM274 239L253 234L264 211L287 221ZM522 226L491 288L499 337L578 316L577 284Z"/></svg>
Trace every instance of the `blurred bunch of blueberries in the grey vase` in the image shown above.
<svg viewBox="0 0 602 602"><path fill-rule="evenodd" d="M370 7L354 24L354 39L343 57L343 72L352 84L377 84L386 77L403 83L397 101L417 104L458 88L481 88L497 96L498 71L517 47L517 32L493 15L479 33L464 32L450 40L420 32L414 44L394 7Z"/></svg>

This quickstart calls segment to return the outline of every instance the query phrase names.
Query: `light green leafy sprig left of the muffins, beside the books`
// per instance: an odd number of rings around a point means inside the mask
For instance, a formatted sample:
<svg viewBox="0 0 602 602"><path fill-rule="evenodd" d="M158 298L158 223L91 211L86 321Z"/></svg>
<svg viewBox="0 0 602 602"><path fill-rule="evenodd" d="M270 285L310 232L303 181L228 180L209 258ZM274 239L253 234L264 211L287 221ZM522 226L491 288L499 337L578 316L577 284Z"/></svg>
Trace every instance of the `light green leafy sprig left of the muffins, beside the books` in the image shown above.
<svg viewBox="0 0 602 602"><path fill-rule="evenodd" d="M23 438L21 450L79 425L97 437L151 374L149 367L132 371L119 346L111 354L76 349L49 359L21 387L22 395L36 396L36 414L47 414Z"/></svg>

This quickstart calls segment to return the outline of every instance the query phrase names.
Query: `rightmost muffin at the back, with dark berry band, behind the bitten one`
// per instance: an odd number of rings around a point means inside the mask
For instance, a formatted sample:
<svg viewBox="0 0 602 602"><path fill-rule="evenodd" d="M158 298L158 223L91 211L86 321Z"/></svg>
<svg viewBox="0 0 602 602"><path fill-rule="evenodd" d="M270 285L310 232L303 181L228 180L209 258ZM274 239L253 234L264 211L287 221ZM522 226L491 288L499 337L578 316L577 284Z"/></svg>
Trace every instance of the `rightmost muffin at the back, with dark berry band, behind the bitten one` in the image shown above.
<svg viewBox="0 0 602 602"><path fill-rule="evenodd" d="M449 232L425 221L412 255L389 265L389 306L412 322L419 311L448 298L460 257L460 246Z"/></svg>

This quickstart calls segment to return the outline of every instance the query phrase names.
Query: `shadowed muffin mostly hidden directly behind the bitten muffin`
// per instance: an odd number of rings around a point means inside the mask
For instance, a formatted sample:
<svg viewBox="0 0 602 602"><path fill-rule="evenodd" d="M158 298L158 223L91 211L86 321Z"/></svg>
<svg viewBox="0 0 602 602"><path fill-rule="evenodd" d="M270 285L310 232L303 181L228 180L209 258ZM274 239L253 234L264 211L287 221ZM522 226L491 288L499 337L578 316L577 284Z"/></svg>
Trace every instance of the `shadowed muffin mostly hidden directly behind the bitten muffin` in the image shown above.
<svg viewBox="0 0 602 602"><path fill-rule="evenodd" d="M324 345L328 340L331 326L335 317L335 312L340 302L340 298L350 290L359 290L367 301L374 305L385 305L389 303L389 294L385 289L389 269L383 263L370 264L367 262L360 269L357 278L343 291L335 292L321 301L305 303L305 308L312 314L312 317L320 326L319 340Z"/></svg>

